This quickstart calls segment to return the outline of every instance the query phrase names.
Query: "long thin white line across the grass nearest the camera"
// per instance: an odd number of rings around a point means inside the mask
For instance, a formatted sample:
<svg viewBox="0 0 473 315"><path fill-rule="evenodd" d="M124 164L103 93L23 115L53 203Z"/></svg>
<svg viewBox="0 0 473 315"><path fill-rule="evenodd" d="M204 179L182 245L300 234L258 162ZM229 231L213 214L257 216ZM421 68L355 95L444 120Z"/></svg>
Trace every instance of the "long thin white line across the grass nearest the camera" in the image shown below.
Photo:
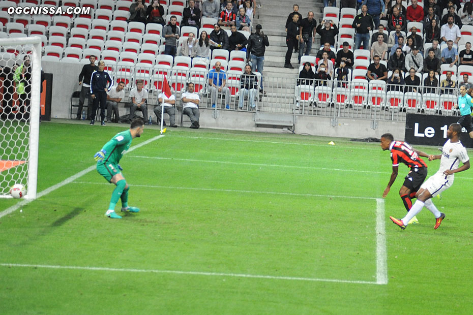
<svg viewBox="0 0 473 315"><path fill-rule="evenodd" d="M382 284L386 284L386 283L378 283L378 282L374 282L374 281L323 279L323 278L290 277L290 276L272 276L272 275L259 275L259 274L244 274L244 273L183 271L183 270L127 269L127 268L108 268L108 267L6 264L6 263L0 263L0 266L4 266L4 267L26 267L26 268L48 268L48 269L73 269L73 270L89 270L89 271L112 271L112 272L113 271L118 271L118 272L167 273L167 274L184 274L184 275L197 275L197 276L240 277L240 278L257 278L257 279L273 279L273 280L319 281L319 282L336 282L336 283L355 283L355 284L361 284L361 285L382 285Z"/></svg>

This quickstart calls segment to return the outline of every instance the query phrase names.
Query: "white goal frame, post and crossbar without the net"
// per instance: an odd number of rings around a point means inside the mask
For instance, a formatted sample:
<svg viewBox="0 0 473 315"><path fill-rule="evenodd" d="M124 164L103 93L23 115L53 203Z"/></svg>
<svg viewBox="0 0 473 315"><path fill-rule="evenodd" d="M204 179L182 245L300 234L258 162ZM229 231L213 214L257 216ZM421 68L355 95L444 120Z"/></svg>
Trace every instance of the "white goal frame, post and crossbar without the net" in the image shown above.
<svg viewBox="0 0 473 315"><path fill-rule="evenodd" d="M26 38L0 39L0 46L32 45L30 56L31 73L31 106L29 115L29 153L28 153L28 182L25 198L36 199L38 182L38 146L40 118L40 89L41 89L41 38L33 36ZM1 196L7 197L7 196Z"/></svg>

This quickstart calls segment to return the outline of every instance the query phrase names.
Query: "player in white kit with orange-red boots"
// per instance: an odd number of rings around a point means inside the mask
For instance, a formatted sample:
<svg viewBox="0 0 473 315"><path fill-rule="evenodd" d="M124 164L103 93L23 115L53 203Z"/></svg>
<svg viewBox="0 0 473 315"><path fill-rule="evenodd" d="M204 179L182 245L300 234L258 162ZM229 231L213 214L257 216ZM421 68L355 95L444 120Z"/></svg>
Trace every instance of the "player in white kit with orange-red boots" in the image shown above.
<svg viewBox="0 0 473 315"><path fill-rule="evenodd" d="M447 138L449 140L442 147L442 154L429 155L429 161L441 159L438 171L421 185L420 190L416 194L417 201L412 205L412 208L410 208L405 217L402 219L389 217L401 229L404 230L409 220L421 212L424 206L435 215L434 229L437 229L445 218L445 214L438 211L431 198L445 191L453 184L454 173L466 171L470 168L469 157L465 147L461 144L460 134L461 125L452 123L447 130ZM463 165L458 167L460 161Z"/></svg>

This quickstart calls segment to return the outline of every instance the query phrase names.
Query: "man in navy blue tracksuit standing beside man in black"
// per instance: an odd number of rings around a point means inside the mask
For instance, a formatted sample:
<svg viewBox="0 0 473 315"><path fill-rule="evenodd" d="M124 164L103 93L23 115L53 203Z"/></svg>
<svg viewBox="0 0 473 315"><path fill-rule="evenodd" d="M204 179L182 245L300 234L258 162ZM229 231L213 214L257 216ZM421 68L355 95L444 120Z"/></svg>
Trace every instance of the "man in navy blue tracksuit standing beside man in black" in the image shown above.
<svg viewBox="0 0 473 315"><path fill-rule="evenodd" d="M97 115L97 110L99 109L100 103L100 118L102 119L102 125L105 125L105 104L107 102L107 91L112 88L113 80L110 78L106 71L103 71L105 67L105 62L103 60L99 61L99 70L94 71L91 75L91 98L94 100L94 109L92 111L92 120L91 124L95 122L95 116ZM107 87L107 83L108 84Z"/></svg>

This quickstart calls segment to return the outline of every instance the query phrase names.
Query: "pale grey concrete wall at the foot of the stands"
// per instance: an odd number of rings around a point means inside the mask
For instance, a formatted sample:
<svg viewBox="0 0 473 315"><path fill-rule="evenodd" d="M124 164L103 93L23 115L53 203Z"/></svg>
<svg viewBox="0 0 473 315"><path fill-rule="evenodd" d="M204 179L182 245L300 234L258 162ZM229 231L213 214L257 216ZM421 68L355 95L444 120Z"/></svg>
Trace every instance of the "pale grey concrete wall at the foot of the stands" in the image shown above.
<svg viewBox="0 0 473 315"><path fill-rule="evenodd" d="M44 72L53 74L51 118L69 118L71 94L80 90L78 77L82 65L42 62L42 67ZM151 108L149 113L152 114ZM153 119L156 119L154 114L152 115ZM217 117L214 116L214 110L201 109L200 125L204 128L282 133L281 128L256 127L255 113L252 112L219 110ZM179 124L180 114L176 120ZM189 127L188 121L189 119L185 117L184 126ZM369 119L338 118L336 126L333 127L330 117L297 116L295 133L345 138L379 138L383 133L390 132L404 138L405 122L378 121L375 130L371 128L371 123Z"/></svg>

